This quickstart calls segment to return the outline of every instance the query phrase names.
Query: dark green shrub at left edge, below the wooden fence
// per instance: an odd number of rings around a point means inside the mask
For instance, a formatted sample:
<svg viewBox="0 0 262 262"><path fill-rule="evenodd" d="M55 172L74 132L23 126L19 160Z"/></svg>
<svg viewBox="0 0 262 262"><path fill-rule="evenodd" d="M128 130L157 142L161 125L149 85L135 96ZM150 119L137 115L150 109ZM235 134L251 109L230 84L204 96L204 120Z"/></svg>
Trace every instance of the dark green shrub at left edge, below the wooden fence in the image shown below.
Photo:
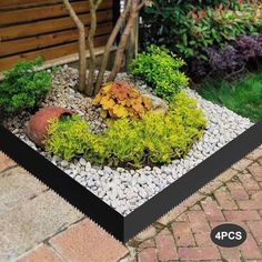
<svg viewBox="0 0 262 262"><path fill-rule="evenodd" d="M42 59L33 62L19 62L12 70L4 72L0 83L0 109L7 113L18 113L31 109L51 87L51 73L33 71L41 66Z"/></svg>

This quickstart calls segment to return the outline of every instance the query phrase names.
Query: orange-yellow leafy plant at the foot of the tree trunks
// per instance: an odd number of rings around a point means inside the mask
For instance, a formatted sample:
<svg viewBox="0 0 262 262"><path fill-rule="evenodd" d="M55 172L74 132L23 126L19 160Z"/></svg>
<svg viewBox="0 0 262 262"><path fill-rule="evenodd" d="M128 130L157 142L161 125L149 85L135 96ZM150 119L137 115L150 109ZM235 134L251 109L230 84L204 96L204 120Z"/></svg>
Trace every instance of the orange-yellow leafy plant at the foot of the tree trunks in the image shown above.
<svg viewBox="0 0 262 262"><path fill-rule="evenodd" d="M102 107L103 118L113 119L138 119L152 108L152 101L125 81L107 83L93 99L93 104Z"/></svg>

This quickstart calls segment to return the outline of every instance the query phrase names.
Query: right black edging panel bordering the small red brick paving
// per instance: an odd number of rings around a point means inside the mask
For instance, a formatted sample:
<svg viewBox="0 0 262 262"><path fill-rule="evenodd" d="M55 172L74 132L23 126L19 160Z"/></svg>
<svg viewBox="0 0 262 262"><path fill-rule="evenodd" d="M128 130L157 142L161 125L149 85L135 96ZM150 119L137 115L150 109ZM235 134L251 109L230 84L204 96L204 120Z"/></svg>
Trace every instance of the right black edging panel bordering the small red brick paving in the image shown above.
<svg viewBox="0 0 262 262"><path fill-rule="evenodd" d="M262 144L262 121L251 127L125 216L124 241L128 241L180 204L260 144Z"/></svg>

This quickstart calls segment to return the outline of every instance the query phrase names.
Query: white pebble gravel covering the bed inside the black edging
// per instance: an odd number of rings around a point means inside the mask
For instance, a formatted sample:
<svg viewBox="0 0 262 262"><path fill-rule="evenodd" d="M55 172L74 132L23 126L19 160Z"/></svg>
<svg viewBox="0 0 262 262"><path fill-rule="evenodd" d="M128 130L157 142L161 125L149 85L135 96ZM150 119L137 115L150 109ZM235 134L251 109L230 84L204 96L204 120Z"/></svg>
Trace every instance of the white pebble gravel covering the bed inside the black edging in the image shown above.
<svg viewBox="0 0 262 262"><path fill-rule="evenodd" d="M64 79L73 79L73 81L70 82L71 87L77 84L75 70L69 70L66 67L61 72L66 75ZM120 78L127 78L127 74L122 74ZM60 88L63 90L68 89L66 82L60 84ZM188 89L187 92L190 97L196 99L199 107L203 110L208 120L208 129L202 140L192 147L187 158L174 160L171 164L162 165L160 168L154 167L151 169L150 167L144 167L139 170L124 170L118 168L114 170L109 167L93 167L84 159L68 162L58 157L51 157L39 148L36 148L36 145L24 135L23 127L29 119L29 114L22 113L17 118L9 119L6 121L6 125L26 143L38 150L79 183L101 198L109 205L113 206L119 213L127 215L253 124L249 119L242 118L226 108L221 108L202 99L193 90ZM66 97L68 95L67 93L71 95L69 99L71 104L73 101L83 104L80 100L87 102L87 99L79 94L78 99L73 100L72 97L74 95L74 91L71 89L69 92L66 92ZM48 101L46 100L44 104L61 105L59 99L58 101L54 99L50 102L49 98ZM66 102L64 105L67 104L68 103ZM75 104L73 107L75 110ZM91 110L91 107L80 108L78 111L81 112L83 109ZM95 118L98 121L98 124L94 124L93 130L97 131L98 127L102 130L104 125L103 122L99 120L98 113L92 112L91 114L97 115L92 118L92 121L95 121L93 120ZM84 112L82 115L84 115Z"/></svg>

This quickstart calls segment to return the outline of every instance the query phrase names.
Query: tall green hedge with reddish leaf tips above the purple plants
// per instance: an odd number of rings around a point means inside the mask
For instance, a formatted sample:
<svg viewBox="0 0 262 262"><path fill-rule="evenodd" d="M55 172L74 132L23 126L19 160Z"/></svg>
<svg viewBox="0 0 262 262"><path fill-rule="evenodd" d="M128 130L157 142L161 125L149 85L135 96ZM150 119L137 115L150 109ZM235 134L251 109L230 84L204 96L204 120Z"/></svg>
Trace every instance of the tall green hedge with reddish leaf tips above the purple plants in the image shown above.
<svg viewBox="0 0 262 262"><path fill-rule="evenodd" d="M153 42L183 58L206 58L204 48L258 32L261 10L261 0L155 0L142 12L142 48Z"/></svg>

